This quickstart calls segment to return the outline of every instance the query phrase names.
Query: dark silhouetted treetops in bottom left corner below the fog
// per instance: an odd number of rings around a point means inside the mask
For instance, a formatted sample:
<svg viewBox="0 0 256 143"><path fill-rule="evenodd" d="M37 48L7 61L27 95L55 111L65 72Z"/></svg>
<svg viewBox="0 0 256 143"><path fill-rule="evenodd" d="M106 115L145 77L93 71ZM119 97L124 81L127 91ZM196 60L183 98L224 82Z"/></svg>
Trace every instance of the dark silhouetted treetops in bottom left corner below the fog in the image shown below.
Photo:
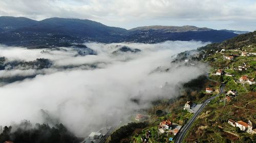
<svg viewBox="0 0 256 143"><path fill-rule="evenodd" d="M15 143L76 143L82 141L81 138L77 138L62 124L55 125L55 127L50 127L48 124L36 124L33 127L29 121L15 126L5 126L0 134L0 142L7 140Z"/></svg>

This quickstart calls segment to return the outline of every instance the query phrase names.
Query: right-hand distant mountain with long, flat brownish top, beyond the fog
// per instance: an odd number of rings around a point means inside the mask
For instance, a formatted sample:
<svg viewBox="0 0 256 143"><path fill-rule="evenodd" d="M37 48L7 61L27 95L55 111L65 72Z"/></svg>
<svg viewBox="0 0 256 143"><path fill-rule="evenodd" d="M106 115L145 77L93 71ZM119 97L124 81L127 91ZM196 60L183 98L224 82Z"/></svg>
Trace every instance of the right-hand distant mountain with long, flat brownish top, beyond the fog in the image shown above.
<svg viewBox="0 0 256 143"><path fill-rule="evenodd" d="M238 34L196 26L143 26L129 30L125 41L157 43L166 40L221 42Z"/></svg>

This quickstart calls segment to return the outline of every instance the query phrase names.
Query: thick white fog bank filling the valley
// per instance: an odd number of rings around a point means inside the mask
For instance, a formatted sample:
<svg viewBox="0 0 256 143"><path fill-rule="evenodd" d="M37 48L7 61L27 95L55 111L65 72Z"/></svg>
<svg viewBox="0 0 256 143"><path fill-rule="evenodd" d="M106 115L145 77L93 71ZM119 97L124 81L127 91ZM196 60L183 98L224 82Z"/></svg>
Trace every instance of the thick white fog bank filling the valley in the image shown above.
<svg viewBox="0 0 256 143"><path fill-rule="evenodd" d="M177 96L181 83L205 72L197 66L171 65L172 55L209 43L166 41L158 44L85 43L97 55L79 55L76 48L27 49L0 46L5 62L49 59L50 68L28 69L16 66L0 70L0 80L31 76L2 83L0 87L0 125L30 120L32 123L61 122L78 136L100 127L119 123L150 101ZM121 46L140 52L114 52ZM157 67L168 72L156 71ZM155 72L154 72L155 71ZM131 99L138 99L138 103ZM43 109L43 110L41 110Z"/></svg>

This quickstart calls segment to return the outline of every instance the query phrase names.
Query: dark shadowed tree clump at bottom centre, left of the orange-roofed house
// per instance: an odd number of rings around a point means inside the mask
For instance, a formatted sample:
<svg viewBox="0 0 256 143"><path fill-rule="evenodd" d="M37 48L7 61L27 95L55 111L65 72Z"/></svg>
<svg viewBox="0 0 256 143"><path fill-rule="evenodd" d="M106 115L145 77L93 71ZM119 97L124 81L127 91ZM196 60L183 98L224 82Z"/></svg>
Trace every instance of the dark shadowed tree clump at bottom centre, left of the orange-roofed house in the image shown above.
<svg viewBox="0 0 256 143"><path fill-rule="evenodd" d="M147 125L148 125L147 122L142 122L142 123L129 123L125 126L122 126L120 129L116 130L111 134L110 143L121 142L122 139L129 138L129 136L131 136L136 129L143 129Z"/></svg>

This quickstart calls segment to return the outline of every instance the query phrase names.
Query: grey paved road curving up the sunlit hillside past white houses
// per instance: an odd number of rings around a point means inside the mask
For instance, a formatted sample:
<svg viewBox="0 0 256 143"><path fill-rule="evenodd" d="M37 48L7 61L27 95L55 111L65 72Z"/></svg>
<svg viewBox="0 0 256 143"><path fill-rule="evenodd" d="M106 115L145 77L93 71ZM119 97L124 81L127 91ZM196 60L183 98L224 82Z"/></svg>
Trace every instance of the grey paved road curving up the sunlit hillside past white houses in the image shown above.
<svg viewBox="0 0 256 143"><path fill-rule="evenodd" d="M225 87L225 84L221 84L220 87L220 93L214 97L210 97L208 99L206 99L204 101L204 103L202 104L202 106L199 108L199 110L193 115L193 117L191 119L189 119L189 121L180 129L180 131L178 132L178 134L175 136L175 143L181 143L182 140L184 139L187 131L189 130L189 128L191 127L191 125L195 122L196 118L200 115L200 113L202 112L202 110L204 109L204 107L208 104L209 101L211 101L212 99L215 99L216 97L218 97L219 95L221 95L223 93L223 89Z"/></svg>

